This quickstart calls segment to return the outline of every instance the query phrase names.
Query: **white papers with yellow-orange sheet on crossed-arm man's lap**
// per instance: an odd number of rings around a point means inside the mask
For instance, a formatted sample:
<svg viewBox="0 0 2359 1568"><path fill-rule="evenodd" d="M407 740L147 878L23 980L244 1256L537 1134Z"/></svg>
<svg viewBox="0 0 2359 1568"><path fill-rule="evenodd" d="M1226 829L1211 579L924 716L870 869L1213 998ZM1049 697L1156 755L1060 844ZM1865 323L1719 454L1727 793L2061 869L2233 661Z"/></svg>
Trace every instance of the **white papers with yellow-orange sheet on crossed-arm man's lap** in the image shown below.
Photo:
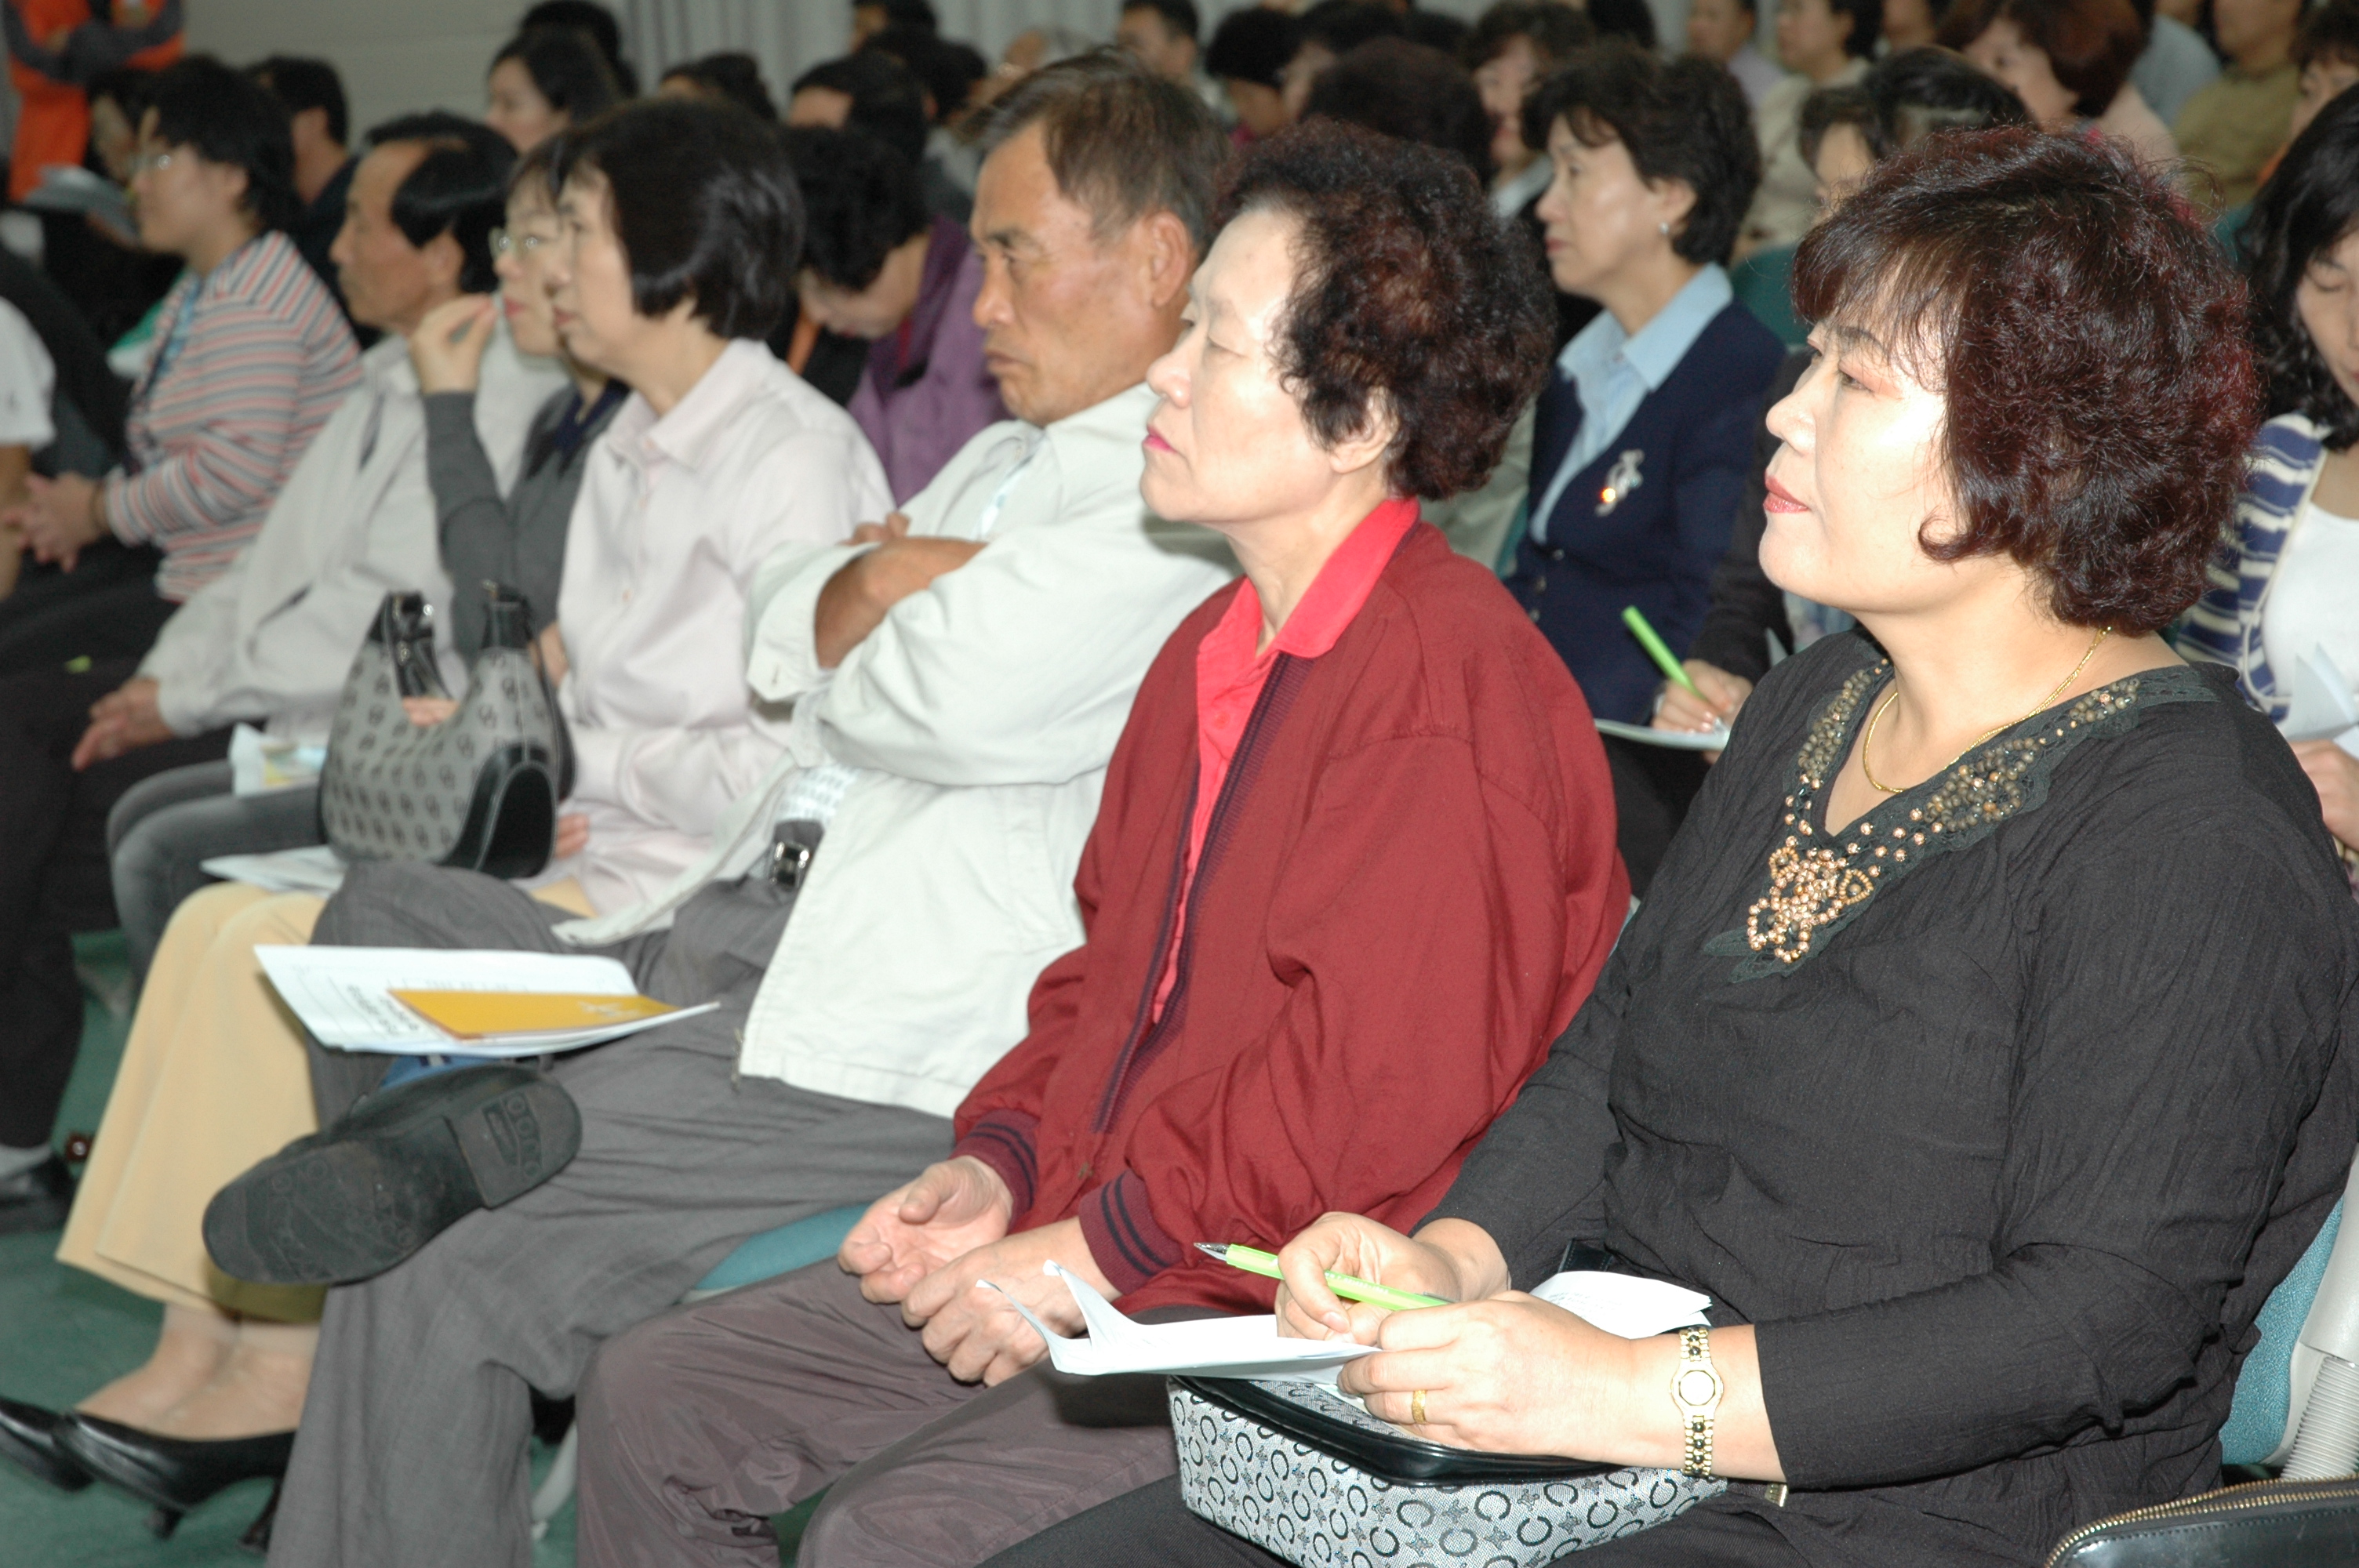
<svg viewBox="0 0 2359 1568"><path fill-rule="evenodd" d="M694 1019L639 995L611 957L439 948L257 946L321 1045L389 1056L540 1056Z"/></svg>

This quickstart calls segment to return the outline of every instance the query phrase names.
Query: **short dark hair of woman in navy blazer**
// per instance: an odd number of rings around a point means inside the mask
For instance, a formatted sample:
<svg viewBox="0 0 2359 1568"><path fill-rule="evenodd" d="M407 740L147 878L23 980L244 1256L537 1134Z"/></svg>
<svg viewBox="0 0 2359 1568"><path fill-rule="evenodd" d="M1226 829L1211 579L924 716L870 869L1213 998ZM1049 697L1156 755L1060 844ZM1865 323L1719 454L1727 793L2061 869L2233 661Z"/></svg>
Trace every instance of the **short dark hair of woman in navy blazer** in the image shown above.
<svg viewBox="0 0 2359 1568"><path fill-rule="evenodd" d="M1583 146L1621 141L1640 179L1684 179L1696 193L1670 248L1689 262L1727 262L1762 182L1746 90L1701 54L1665 61L1625 38L1573 50L1524 99L1524 146L1548 146L1564 120Z"/></svg>

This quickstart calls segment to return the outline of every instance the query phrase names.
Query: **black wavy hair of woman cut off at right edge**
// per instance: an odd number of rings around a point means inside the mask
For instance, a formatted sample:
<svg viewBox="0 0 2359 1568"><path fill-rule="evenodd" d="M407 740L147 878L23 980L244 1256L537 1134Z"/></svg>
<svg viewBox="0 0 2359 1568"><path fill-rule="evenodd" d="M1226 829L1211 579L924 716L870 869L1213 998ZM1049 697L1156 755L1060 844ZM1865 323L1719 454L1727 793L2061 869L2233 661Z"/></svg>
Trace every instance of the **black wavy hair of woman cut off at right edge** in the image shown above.
<svg viewBox="0 0 2359 1568"><path fill-rule="evenodd" d="M2293 290L2321 255L2359 229L2359 92L2340 92L2293 139L2243 226L2253 344L2269 373L2269 413L2305 415L2331 450L2359 441L2359 406L2309 340Z"/></svg>

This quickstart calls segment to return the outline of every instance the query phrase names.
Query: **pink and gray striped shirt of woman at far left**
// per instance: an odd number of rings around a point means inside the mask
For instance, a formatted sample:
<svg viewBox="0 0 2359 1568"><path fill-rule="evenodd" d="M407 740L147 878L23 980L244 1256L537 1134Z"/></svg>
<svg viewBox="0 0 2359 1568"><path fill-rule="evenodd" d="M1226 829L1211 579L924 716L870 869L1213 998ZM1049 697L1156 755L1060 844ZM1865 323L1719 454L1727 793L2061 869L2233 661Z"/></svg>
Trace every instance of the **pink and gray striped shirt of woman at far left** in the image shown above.
<svg viewBox="0 0 2359 1568"><path fill-rule="evenodd" d="M335 297L295 243L262 233L205 276L182 274L132 394L127 462L106 521L165 552L156 592L184 601L222 575L328 415L361 384Z"/></svg>

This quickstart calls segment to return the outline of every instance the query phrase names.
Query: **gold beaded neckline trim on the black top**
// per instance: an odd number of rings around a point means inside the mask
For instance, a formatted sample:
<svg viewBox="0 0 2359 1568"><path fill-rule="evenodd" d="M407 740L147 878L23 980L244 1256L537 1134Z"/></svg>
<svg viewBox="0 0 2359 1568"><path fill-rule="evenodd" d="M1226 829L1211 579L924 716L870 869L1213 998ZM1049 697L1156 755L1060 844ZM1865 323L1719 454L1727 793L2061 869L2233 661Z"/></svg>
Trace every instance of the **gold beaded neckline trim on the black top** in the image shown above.
<svg viewBox="0 0 2359 1568"><path fill-rule="evenodd" d="M1790 971L1824 950L1880 889L2043 804L2048 776L2083 740L2128 733L2142 707L2217 700L2187 667L2123 677L2024 719L1925 783L1885 797L1842 832L1826 832L1819 797L1849 755L1868 698L1890 674L1890 660L1852 672L1812 719L1779 811L1767 887L1746 908L1743 929L1722 931L1703 948L1739 960L1732 981Z"/></svg>

